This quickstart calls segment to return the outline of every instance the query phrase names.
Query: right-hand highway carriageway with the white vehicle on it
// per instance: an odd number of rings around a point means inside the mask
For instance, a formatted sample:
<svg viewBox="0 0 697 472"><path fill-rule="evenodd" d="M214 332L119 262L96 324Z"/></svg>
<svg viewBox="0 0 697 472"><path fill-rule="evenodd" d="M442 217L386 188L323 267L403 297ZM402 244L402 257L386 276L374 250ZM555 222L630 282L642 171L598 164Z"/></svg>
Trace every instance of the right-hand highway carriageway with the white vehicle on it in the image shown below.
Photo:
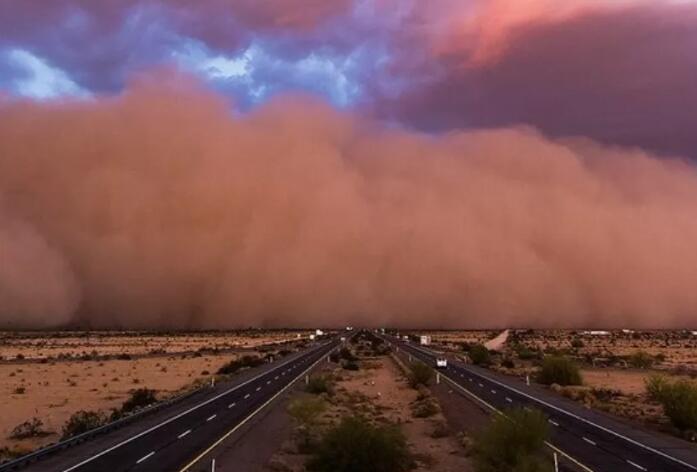
<svg viewBox="0 0 697 472"><path fill-rule="evenodd" d="M428 365L430 349L385 336L388 342ZM594 472L695 472L697 453L683 441L632 428L601 412L584 408L553 392L470 364L448 360L441 375L491 410L537 408L549 418L551 446Z"/></svg>

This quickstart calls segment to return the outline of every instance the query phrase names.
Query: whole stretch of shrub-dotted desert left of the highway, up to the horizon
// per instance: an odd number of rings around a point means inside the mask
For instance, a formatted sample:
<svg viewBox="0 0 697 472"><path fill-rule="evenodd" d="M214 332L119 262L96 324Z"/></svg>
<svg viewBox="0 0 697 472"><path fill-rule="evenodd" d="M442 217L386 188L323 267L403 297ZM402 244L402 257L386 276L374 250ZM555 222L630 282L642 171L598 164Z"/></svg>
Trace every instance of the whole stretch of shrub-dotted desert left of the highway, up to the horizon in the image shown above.
<svg viewBox="0 0 697 472"><path fill-rule="evenodd" d="M3 333L0 452L14 456L56 442L73 413L108 415L134 389L153 390L159 400L183 393L241 355L293 349L298 335L306 339L308 333ZM11 437L33 418L41 421L41 434Z"/></svg>

